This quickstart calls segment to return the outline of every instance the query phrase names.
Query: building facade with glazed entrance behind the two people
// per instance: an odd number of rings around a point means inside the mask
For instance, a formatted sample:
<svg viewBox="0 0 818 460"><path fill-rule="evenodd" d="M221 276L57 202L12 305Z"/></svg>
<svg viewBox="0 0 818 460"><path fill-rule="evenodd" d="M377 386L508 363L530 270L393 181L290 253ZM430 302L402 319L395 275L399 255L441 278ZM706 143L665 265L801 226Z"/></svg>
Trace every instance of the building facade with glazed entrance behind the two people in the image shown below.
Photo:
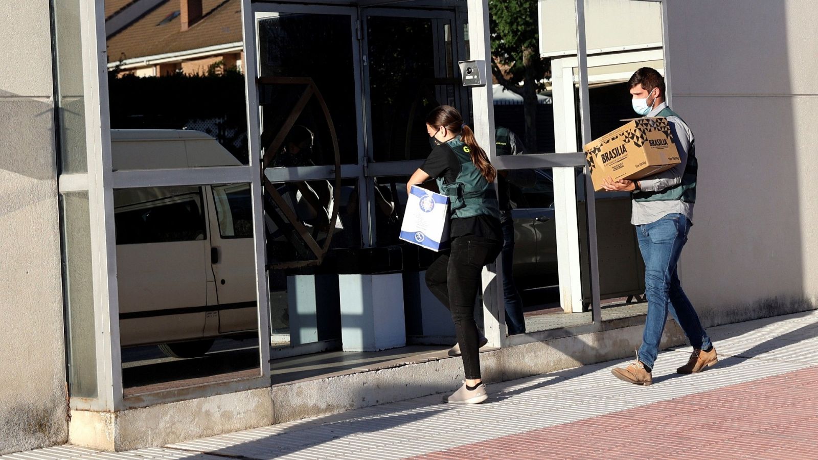
<svg viewBox="0 0 818 460"><path fill-rule="evenodd" d="M0 453L162 445L460 380L447 313L422 283L431 254L396 230L430 108L459 107L483 146L508 124L492 85L464 87L458 66L492 60L488 2L0 12L15 43L0 70ZM680 269L703 322L814 309L818 7L541 0L533 14L551 70L537 127L553 148L487 149L536 180L512 213L513 274L501 260L484 272L484 378L639 345L629 197L593 192L581 147L628 116L642 65L666 75L699 146ZM192 70L213 60L242 72ZM506 334L504 276L524 291L526 333Z"/></svg>

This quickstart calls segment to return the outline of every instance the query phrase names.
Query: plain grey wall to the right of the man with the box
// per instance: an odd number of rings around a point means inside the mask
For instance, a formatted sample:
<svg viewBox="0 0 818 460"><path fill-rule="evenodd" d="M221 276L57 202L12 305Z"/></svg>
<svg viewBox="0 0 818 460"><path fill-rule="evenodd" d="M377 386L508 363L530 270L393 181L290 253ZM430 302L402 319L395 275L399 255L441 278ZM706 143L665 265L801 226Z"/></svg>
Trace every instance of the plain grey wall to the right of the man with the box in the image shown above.
<svg viewBox="0 0 818 460"><path fill-rule="evenodd" d="M709 323L815 308L818 2L669 0L698 201L681 277Z"/></svg>

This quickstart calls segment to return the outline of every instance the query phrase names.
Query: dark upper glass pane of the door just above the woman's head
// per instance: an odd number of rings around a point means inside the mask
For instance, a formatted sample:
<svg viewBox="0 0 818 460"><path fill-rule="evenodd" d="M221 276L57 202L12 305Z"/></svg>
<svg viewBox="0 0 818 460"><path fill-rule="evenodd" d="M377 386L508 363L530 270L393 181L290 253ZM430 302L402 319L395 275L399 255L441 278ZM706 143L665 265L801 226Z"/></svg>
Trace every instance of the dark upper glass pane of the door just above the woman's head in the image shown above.
<svg viewBox="0 0 818 460"><path fill-rule="evenodd" d="M434 85L425 83L435 77L432 32L429 19L378 16L367 20L371 119L377 160L403 160L407 134L411 145L421 149L420 156L428 153L425 116L439 105ZM420 100L416 101L416 97ZM416 154L415 148L411 153Z"/></svg>

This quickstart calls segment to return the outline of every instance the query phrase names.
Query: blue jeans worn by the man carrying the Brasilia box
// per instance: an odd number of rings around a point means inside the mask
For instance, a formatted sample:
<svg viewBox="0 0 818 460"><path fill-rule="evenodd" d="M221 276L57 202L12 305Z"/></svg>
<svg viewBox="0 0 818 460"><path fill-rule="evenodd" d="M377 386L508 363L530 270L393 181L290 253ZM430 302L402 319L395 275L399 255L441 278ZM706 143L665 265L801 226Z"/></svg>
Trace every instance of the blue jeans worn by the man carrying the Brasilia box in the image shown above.
<svg viewBox="0 0 818 460"><path fill-rule="evenodd" d="M639 249L645 259L645 295L648 297L639 360L649 368L654 367L668 311L694 349L707 350L712 345L699 315L681 289L676 267L691 225L684 214L667 214L656 222L636 226Z"/></svg>

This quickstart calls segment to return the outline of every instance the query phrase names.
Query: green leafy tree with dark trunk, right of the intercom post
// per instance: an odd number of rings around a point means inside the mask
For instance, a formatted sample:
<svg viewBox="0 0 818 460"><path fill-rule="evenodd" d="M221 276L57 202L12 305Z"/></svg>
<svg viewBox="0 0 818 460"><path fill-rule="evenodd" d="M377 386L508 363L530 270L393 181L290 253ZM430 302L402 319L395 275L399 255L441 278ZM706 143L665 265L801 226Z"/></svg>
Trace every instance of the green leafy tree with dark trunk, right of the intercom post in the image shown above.
<svg viewBox="0 0 818 460"><path fill-rule="evenodd" d="M523 97L525 145L536 149L537 91L551 76L551 61L540 57L537 0L490 0L488 11L492 74L503 88Z"/></svg>

